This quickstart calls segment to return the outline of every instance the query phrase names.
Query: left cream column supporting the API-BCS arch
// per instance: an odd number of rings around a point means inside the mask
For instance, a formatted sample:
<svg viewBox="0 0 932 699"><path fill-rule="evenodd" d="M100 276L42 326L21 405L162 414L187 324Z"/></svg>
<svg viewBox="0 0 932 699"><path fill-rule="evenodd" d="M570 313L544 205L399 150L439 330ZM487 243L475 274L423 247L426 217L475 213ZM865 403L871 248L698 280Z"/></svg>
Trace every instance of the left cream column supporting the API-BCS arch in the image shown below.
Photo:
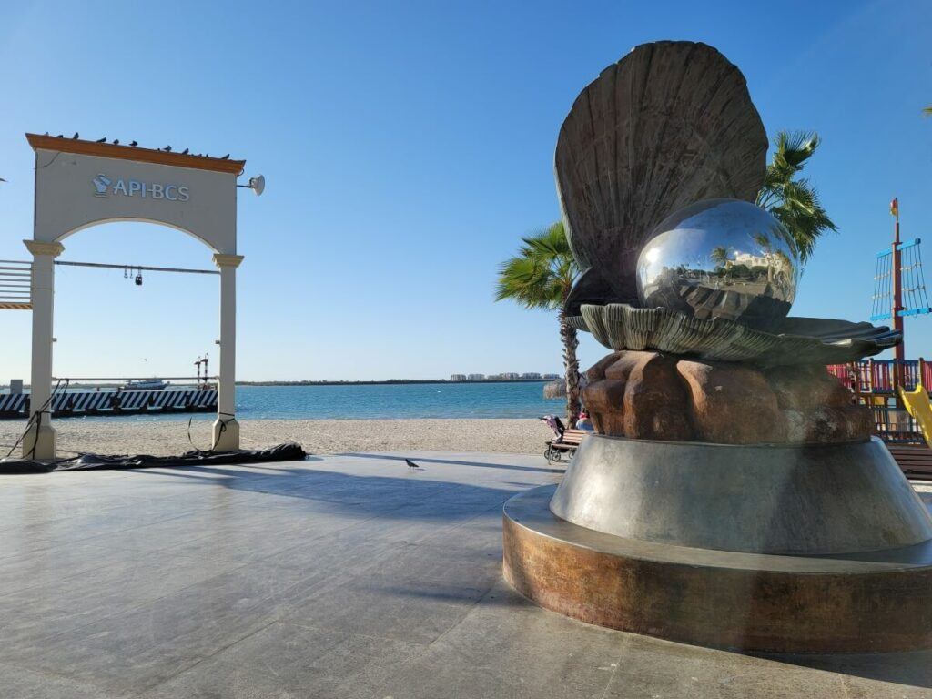
<svg viewBox="0 0 932 699"><path fill-rule="evenodd" d="M25 459L54 459L55 430L48 398L52 391L52 317L55 304L55 258L60 242L23 240L33 254L33 363L30 377L29 430L22 438Z"/></svg>

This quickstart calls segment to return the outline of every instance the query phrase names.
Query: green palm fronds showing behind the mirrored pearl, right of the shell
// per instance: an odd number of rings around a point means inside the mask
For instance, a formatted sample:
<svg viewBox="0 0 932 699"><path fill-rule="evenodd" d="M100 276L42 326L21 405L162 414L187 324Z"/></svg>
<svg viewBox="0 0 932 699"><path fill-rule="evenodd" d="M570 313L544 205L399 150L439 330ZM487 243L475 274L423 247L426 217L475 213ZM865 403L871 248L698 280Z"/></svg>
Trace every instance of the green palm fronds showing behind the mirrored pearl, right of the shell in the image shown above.
<svg viewBox="0 0 932 699"><path fill-rule="evenodd" d="M767 166L757 204L787 226L792 245L802 262L816 247L816 240L827 230L838 228L822 208L816 187L797 177L819 144L815 131L780 131L774 138L774 156Z"/></svg>

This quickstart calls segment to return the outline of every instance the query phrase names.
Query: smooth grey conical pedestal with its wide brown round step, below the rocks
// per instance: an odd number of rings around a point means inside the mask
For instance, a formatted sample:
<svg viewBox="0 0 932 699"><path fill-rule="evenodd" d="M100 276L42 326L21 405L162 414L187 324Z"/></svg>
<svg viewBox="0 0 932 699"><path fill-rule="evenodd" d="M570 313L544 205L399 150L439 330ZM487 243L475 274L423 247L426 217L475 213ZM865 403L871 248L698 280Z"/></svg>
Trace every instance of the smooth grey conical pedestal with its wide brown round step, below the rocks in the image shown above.
<svg viewBox="0 0 932 699"><path fill-rule="evenodd" d="M584 622L746 651L932 647L932 519L877 440L593 435L503 519L506 580Z"/></svg>

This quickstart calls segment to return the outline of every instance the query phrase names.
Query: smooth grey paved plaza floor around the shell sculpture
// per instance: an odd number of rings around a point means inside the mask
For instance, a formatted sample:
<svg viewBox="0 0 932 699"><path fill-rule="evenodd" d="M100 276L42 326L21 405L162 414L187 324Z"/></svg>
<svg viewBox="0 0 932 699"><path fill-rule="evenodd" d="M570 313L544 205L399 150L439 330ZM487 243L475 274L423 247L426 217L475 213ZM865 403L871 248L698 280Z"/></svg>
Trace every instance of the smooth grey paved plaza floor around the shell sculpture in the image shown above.
<svg viewBox="0 0 932 699"><path fill-rule="evenodd" d="M930 652L750 656L537 608L501 580L501 505L561 475L418 453L2 476L0 696L932 696Z"/></svg>

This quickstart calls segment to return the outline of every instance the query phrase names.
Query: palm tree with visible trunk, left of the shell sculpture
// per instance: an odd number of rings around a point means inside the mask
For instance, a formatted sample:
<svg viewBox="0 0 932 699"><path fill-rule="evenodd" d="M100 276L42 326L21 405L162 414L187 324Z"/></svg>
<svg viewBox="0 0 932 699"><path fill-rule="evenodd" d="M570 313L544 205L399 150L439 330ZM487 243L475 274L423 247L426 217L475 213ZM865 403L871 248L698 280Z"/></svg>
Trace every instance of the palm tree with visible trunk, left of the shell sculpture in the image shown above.
<svg viewBox="0 0 932 699"><path fill-rule="evenodd" d="M525 308L558 311L563 366L567 381L567 419L580 411L580 363L576 357L579 339L567 323L564 303L579 276L580 268L569 250L562 223L522 238L521 249L499 267L495 300L510 298Z"/></svg>

